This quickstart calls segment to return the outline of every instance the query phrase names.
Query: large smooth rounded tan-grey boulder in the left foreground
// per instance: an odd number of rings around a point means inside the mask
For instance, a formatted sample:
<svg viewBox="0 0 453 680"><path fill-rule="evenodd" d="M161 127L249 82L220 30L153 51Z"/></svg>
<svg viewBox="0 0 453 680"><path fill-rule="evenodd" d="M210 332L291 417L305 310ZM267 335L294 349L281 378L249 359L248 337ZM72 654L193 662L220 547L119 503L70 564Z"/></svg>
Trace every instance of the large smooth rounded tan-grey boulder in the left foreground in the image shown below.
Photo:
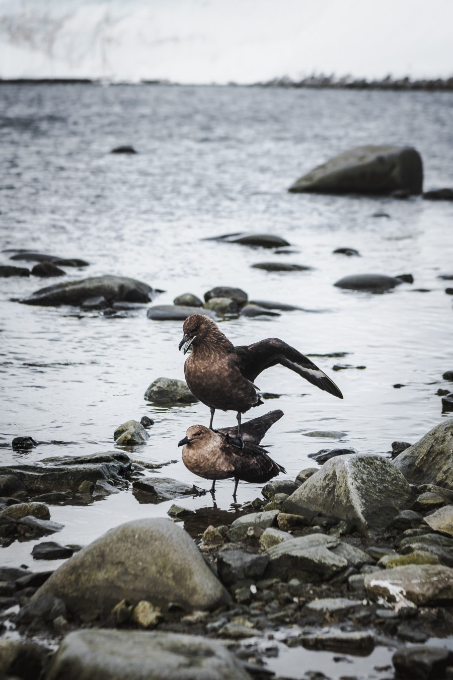
<svg viewBox="0 0 453 680"><path fill-rule="evenodd" d="M108 615L121 600L215 609L229 595L190 536L170 520L121 524L58 568L34 597L50 593L84 619Z"/></svg>

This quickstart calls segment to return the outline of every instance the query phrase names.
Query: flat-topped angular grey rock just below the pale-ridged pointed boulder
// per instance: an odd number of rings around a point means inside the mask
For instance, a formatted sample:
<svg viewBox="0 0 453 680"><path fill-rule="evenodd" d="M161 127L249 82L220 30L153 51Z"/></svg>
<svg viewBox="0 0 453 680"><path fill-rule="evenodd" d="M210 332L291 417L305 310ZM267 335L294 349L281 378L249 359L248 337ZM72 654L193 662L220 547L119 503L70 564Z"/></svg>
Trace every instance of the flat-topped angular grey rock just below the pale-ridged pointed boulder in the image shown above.
<svg viewBox="0 0 453 680"><path fill-rule="evenodd" d="M266 575L281 580L297 578L308 583L329 579L348 566L348 560L329 549L339 543L338 539L324 534L309 534L274 545L267 550Z"/></svg>

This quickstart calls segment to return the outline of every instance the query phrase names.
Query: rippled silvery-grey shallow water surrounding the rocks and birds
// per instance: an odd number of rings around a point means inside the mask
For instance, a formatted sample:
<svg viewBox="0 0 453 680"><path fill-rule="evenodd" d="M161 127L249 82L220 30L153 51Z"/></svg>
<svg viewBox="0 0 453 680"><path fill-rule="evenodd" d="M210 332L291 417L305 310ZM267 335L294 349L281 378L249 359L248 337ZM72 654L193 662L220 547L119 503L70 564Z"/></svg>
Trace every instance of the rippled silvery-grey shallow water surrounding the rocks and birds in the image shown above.
<svg viewBox="0 0 453 680"><path fill-rule="evenodd" d="M435 392L448 387L441 376L453 368L452 298L444 292L449 283L437 278L453 273L452 204L286 189L345 148L384 142L418 148L426 188L452 186L452 113L448 93L2 86L0 246L86 258L90 267L68 268L68 279L135 277L165 289L156 297L159 304L186 291L203 296L213 286L232 285L250 299L312 310L228 320L221 327L236 344L277 336L305 354L348 352L314 359L344 400L275 367L257 384L280 398L249 415L284 411L265 442L288 478L312 466L307 455L325 447L385 454L392 441L414 442L449 417L441 414ZM122 144L139 153L109 153ZM374 217L377 211L388 218ZM235 231L276 233L299 252L277 255L201 240ZM359 250L360 258L333 254L344 246ZM7 258L3 253L0 263ZM278 259L314 270L250 267ZM381 295L333 286L344 275L367 272L412 273L415 283ZM186 471L177 447L188 426L209 422L207 407L162 409L143 398L157 377L184 377L182 324L148 320L145 309L106 317L10 301L53 280L1 279L0 443L18 435L70 443L27 453L0 449L3 463L113 449L116 426L147 414L155 420L150 439L128 451L131 458L177 458L160 473L209 488ZM335 364L366 368L336 373ZM233 413L216 413L217 426L234 422ZM304 436L312 430L345 434ZM233 482L217 488L218 507L229 509ZM237 500L251 500L260 490L241 483ZM165 516L169 505L139 505L125 492L88 507L52 506L52 520L65 524L54 539L86 544L120 522ZM212 507L212 499L189 498L181 505ZM60 563L32 564L36 542L0 549L0 562L34 569Z"/></svg>

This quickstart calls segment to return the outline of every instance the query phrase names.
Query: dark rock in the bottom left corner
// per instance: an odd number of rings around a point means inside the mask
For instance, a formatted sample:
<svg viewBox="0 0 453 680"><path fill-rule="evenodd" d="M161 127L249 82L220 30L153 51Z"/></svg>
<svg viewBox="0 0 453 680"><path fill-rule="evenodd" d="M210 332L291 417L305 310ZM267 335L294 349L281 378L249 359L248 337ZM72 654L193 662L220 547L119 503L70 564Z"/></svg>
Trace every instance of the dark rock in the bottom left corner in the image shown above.
<svg viewBox="0 0 453 680"><path fill-rule="evenodd" d="M1 677L32 680L42 677L48 664L49 650L32 642L0 641Z"/></svg>

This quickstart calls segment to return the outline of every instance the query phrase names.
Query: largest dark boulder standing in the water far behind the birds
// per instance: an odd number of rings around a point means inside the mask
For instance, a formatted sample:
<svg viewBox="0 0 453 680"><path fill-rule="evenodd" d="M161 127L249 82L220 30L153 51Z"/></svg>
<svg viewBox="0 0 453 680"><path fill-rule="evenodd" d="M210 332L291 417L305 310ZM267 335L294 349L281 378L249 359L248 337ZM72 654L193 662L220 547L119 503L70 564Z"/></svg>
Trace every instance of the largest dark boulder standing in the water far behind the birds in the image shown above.
<svg viewBox="0 0 453 680"><path fill-rule="evenodd" d="M357 146L303 175L290 192L390 194L404 189L421 194L422 158L407 146Z"/></svg>

